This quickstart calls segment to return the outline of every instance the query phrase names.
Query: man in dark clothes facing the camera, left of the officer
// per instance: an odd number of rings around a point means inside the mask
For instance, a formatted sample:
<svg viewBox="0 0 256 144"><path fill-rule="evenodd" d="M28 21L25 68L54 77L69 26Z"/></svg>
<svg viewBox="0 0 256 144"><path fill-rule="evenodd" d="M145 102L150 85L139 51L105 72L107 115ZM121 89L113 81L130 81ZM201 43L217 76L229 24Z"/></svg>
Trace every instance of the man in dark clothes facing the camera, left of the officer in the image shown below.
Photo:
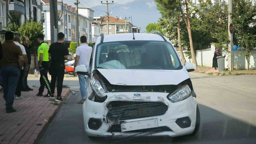
<svg viewBox="0 0 256 144"><path fill-rule="evenodd" d="M27 57L28 57L28 71L29 71L30 64L31 64L31 52L30 52L30 50L28 48L28 46L29 46L29 38L28 37L23 38L22 42L23 42L22 45L25 47L25 50L26 50L26 53L27 53ZM25 63L24 63L23 67L25 68ZM27 80L27 78L28 78L28 71L24 70L21 73L21 83L22 83L21 91L33 91L32 88L28 87L28 80Z"/></svg>

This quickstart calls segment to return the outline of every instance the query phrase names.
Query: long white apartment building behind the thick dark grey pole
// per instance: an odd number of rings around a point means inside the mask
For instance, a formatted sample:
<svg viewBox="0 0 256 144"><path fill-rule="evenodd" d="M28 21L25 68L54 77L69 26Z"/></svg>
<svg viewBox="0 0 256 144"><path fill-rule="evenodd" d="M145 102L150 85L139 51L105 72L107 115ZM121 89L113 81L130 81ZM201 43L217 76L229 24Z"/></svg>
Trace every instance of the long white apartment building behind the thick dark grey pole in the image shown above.
<svg viewBox="0 0 256 144"><path fill-rule="evenodd" d="M45 35L45 42L51 43L51 31L50 31L50 5L46 3L48 0L42 0L43 10L41 13L41 18L43 21L43 29ZM58 2L58 31L65 34L64 42L69 45L70 42L76 42L76 7L67 5L62 2ZM89 25L90 24L90 25ZM90 33L91 21L86 16L79 14L78 16L78 27L79 27L79 37ZM91 41L90 36L88 37L88 42Z"/></svg>

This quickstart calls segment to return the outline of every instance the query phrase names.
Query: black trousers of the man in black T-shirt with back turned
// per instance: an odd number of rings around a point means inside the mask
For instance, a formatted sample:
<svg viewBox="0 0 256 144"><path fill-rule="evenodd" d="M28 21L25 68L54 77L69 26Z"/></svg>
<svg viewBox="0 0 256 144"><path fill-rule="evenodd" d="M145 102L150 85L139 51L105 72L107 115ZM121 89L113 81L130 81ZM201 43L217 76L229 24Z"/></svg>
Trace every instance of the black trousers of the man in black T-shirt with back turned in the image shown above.
<svg viewBox="0 0 256 144"><path fill-rule="evenodd" d="M51 93L55 93L55 84L57 80L57 96L61 96L62 93L62 84L64 79L65 66L64 64L51 65Z"/></svg>

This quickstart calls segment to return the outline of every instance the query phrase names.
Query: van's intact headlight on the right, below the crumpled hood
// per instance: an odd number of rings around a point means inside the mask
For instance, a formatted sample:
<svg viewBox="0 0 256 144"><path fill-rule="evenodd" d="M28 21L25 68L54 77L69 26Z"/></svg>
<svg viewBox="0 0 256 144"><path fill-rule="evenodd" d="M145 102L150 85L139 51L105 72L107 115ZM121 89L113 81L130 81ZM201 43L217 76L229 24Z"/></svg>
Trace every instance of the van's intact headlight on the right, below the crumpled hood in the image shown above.
<svg viewBox="0 0 256 144"><path fill-rule="evenodd" d="M176 90L175 92L173 92L172 94L168 95L167 97L171 102L175 103L175 102L182 101L185 98L188 98L190 95L191 95L191 90L189 86L184 85L178 90Z"/></svg>

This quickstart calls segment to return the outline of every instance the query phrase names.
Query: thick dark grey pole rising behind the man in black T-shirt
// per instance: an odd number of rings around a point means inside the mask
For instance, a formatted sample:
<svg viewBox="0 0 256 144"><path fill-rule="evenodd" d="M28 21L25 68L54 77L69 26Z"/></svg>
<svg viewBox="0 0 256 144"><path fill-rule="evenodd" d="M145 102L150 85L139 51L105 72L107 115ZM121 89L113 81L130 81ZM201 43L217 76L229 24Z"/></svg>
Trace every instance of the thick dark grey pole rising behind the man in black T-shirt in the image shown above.
<svg viewBox="0 0 256 144"><path fill-rule="evenodd" d="M50 30L51 30L51 43L57 42L58 30L58 8L57 0L50 1Z"/></svg>

